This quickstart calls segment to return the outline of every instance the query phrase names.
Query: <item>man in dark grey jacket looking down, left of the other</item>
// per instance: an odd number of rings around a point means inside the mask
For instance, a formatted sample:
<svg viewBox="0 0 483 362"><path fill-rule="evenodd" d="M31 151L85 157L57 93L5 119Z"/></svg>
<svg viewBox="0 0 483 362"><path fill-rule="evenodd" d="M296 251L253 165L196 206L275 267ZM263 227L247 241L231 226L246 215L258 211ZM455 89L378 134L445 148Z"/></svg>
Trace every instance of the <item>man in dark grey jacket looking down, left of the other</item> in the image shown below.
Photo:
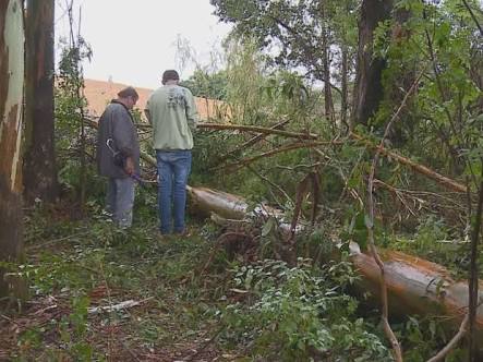
<svg viewBox="0 0 483 362"><path fill-rule="evenodd" d="M97 135L98 171L109 179L106 210L123 229L132 224L133 176L140 173L140 143L130 112L138 98L133 87L119 92L100 117Z"/></svg>

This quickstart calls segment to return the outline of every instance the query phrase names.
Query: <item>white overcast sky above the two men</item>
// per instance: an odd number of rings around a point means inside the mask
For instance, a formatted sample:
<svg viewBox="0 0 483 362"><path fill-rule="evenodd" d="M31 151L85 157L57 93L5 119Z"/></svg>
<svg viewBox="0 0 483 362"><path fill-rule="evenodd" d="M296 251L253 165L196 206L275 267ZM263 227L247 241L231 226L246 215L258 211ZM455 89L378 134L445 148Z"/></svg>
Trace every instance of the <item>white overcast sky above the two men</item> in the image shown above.
<svg viewBox="0 0 483 362"><path fill-rule="evenodd" d="M67 35L65 0L56 0L56 39ZM87 79L156 88L166 69L190 76L191 62L180 69L177 39L188 39L197 62L212 64L209 53L220 49L230 26L213 15L209 0L75 0L75 20L82 8L81 34L94 57L84 63ZM58 61L58 59L56 60Z"/></svg>

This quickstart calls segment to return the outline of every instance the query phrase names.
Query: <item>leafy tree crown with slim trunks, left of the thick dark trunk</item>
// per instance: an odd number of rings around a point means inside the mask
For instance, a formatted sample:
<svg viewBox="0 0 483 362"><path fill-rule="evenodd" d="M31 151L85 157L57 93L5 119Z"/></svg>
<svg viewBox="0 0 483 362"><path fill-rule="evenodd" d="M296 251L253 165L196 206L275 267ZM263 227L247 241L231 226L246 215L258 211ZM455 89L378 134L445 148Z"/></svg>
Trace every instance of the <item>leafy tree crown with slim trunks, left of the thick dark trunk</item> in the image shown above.
<svg viewBox="0 0 483 362"><path fill-rule="evenodd" d="M234 33L247 35L268 49L267 56L277 65L305 71L305 76L324 82L325 113L334 116L331 90L341 93L331 79L335 51L343 44L345 69L340 79L348 77L347 41L358 8L352 0L210 0L221 21L234 24ZM342 16L343 14L343 16ZM338 51L342 55L342 51ZM346 86L345 84L343 86ZM343 96L342 96L343 97ZM347 110L347 94L343 107Z"/></svg>

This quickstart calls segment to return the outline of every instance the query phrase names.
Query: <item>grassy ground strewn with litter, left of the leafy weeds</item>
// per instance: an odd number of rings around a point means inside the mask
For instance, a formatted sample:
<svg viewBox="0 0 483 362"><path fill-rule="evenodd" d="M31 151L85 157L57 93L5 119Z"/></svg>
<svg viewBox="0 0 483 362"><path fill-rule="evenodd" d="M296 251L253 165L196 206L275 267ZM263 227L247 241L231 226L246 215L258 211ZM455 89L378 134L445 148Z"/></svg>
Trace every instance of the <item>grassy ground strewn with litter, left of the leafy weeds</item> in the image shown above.
<svg viewBox="0 0 483 362"><path fill-rule="evenodd" d="M0 359L143 360L194 353L215 328L216 321L204 314L216 303L210 300L216 277L196 274L213 242L197 233L203 226L190 226L188 238L160 239L157 219L148 213L138 208L126 231L97 214L82 221L32 214L26 262L16 270L28 280L31 299L20 310L4 311L17 329L2 331ZM87 307L126 300L141 304L87 313ZM203 353L217 351L210 346Z"/></svg>

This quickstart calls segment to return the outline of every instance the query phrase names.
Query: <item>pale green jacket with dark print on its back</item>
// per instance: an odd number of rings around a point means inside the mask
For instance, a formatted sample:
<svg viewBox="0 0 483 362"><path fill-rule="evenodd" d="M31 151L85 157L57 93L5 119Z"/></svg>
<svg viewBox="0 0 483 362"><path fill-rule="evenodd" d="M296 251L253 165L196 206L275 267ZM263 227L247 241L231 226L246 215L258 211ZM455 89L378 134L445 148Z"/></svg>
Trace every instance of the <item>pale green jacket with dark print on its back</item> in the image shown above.
<svg viewBox="0 0 483 362"><path fill-rule="evenodd" d="M155 149L191 149L193 131L198 119L190 89L171 84L156 89L147 100L146 110L153 124Z"/></svg>

